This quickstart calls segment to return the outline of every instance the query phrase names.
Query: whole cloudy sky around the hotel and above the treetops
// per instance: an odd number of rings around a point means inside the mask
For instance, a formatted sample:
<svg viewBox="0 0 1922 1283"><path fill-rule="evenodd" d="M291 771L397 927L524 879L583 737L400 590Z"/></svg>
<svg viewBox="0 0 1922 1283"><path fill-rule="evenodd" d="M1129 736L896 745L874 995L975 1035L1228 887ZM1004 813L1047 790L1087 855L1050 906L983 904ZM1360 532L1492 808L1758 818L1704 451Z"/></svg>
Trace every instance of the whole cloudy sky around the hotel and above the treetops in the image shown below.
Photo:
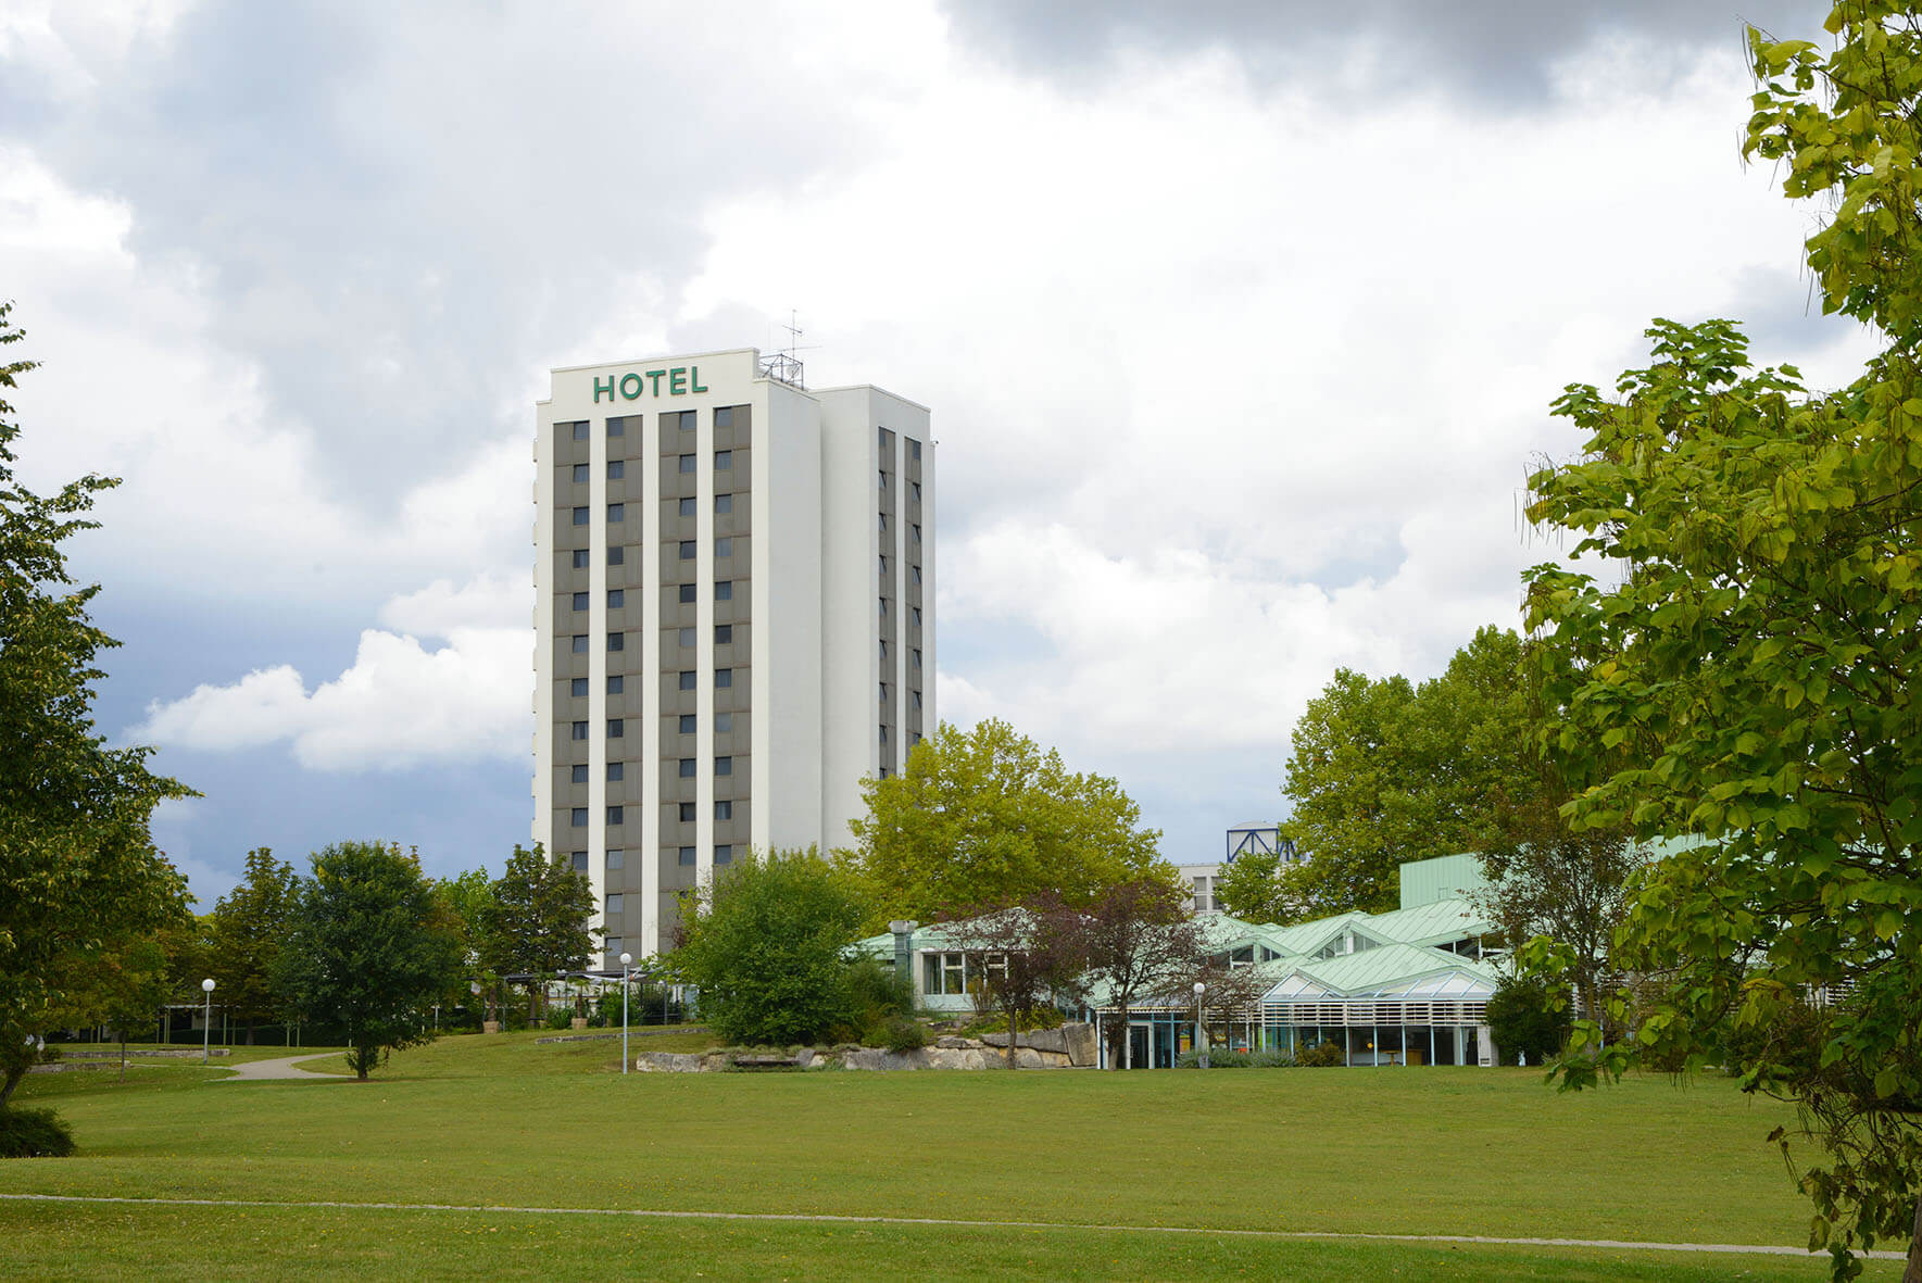
<svg viewBox="0 0 1922 1283"><path fill-rule="evenodd" d="M794 309L934 407L942 714L1213 857L1338 665L1516 622L1563 384L1657 315L1866 353L1737 154L1741 21L1826 6L1736 4L0 0L21 471L125 478L100 726L204 793L206 905L254 845L498 872L546 371Z"/></svg>

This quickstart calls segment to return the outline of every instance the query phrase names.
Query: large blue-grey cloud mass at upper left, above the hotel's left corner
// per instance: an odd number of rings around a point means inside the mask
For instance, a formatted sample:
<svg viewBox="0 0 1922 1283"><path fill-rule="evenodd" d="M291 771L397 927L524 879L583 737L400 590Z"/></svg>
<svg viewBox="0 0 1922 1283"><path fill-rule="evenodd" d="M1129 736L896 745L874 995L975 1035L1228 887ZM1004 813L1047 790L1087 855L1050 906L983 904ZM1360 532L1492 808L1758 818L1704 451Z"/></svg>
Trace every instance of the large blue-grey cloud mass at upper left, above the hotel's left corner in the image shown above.
<svg viewBox="0 0 1922 1283"><path fill-rule="evenodd" d="M859 134L825 73L700 12L236 0L85 36L79 75L0 58L0 144L125 202L133 254L202 280L211 338L369 511L523 423L609 315L671 315L717 202Z"/></svg>

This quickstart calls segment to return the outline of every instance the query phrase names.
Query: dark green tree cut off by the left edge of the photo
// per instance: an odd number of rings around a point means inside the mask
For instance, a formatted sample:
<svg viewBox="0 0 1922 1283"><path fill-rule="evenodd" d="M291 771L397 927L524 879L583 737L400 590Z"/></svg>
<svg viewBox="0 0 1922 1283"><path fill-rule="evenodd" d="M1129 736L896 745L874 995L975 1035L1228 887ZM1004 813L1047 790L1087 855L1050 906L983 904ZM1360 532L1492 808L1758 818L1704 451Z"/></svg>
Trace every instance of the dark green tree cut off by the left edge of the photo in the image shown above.
<svg viewBox="0 0 1922 1283"><path fill-rule="evenodd" d="M0 346L25 332L0 303ZM0 363L15 388L33 361ZM0 399L0 1106L38 1056L62 976L186 914L186 880L154 849L154 807L190 789L152 774L152 749L94 734L94 657L117 645L75 588L62 542L115 482L83 476L54 496L13 480L13 407Z"/></svg>

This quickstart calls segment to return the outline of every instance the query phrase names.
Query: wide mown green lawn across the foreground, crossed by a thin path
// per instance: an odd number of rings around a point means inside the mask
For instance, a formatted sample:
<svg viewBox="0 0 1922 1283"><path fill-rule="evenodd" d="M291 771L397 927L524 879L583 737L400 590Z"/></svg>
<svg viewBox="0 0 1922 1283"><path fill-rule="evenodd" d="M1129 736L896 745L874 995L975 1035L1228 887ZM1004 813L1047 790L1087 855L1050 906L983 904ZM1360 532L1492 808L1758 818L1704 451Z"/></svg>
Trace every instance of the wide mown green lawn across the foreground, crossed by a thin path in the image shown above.
<svg viewBox="0 0 1922 1283"><path fill-rule="evenodd" d="M1147 1233L1799 1245L1807 1206L1722 1079L1555 1095L1532 1070L615 1072L619 1043L450 1037L371 1083L173 1062L35 1077L83 1154L0 1164L8 1273L1820 1279L1816 1258ZM673 1051L700 1035L650 1037ZM329 1068L309 1062L308 1068ZM892 1225L498 1208L1046 1222ZM1895 1277L1874 1262L1868 1277Z"/></svg>

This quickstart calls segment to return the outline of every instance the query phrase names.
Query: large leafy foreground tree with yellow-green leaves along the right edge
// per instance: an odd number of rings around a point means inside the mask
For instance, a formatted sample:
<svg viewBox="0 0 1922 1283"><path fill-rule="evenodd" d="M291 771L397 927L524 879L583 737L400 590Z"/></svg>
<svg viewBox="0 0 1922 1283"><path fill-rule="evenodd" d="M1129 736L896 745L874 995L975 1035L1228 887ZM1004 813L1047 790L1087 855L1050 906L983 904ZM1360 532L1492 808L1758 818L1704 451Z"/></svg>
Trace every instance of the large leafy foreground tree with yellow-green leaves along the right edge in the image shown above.
<svg viewBox="0 0 1922 1283"><path fill-rule="evenodd" d="M1530 478L1530 517L1578 534L1528 572L1555 705L1551 747L1618 747L1570 803L1582 824L1699 834L1653 864L1618 939L1645 976L1634 1043L1582 1022L1566 1087L1638 1056L1714 1054L1722 1029L1753 1091L1799 1106L1811 1245L1909 1239L1922 1281L1922 25L1849 0L1832 54L1751 31L1745 152L1793 198L1828 194L1807 242L1826 311L1887 346L1860 378L1809 394L1755 371L1728 321L1657 321L1653 363L1557 401L1580 459ZM1549 949L1532 956L1553 964ZM1630 993L1614 999L1628 1012ZM1784 1054L1801 1005L1820 1054ZM1778 1131L1784 1154L1795 1135Z"/></svg>

